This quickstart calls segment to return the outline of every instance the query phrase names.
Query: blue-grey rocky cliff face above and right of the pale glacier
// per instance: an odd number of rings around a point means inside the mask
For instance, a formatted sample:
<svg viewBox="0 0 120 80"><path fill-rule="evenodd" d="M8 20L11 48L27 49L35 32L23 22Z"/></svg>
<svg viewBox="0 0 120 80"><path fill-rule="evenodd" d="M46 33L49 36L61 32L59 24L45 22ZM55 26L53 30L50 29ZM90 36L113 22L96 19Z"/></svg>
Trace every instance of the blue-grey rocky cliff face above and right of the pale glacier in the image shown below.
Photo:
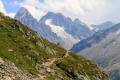
<svg viewBox="0 0 120 80"><path fill-rule="evenodd" d="M73 36L75 39L78 38L81 40L83 37L86 38L92 35L92 31L89 27L79 19L72 21L71 18L66 18L61 13L48 12L47 15L41 18L39 23L45 23L47 19L51 19L51 23L55 26L64 27L65 32Z"/></svg>

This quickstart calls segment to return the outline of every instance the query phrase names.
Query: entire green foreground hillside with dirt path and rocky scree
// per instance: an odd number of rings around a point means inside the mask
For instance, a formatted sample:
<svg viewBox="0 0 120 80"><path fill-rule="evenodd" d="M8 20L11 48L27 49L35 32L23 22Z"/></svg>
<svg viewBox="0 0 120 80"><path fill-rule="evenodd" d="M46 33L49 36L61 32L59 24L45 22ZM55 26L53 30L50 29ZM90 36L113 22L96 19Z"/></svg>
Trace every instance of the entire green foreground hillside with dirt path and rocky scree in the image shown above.
<svg viewBox="0 0 120 80"><path fill-rule="evenodd" d="M110 80L97 64L0 13L0 79Z"/></svg>

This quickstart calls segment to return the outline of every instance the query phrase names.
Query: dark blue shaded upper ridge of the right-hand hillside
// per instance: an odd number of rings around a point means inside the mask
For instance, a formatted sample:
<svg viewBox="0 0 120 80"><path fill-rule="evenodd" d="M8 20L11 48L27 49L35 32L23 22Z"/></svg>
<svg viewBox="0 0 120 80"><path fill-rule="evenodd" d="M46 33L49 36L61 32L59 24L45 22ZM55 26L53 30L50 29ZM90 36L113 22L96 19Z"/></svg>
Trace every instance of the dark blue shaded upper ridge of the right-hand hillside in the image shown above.
<svg viewBox="0 0 120 80"><path fill-rule="evenodd" d="M100 42L103 38L105 38L106 36L107 36L107 34L109 34L110 32L115 32L116 30L119 30L120 28L119 28L119 25L120 25L120 23L119 24L117 24L117 25L115 25L115 26L118 26L118 27L111 27L111 28L109 28L109 29L106 29L106 30L101 30L101 31L99 31L99 32L96 32L92 37L89 37L88 39L84 39L84 40L82 40L82 41L80 41L79 43L77 43L77 44L75 44L75 45L73 45L73 47L75 48L75 46L76 46L76 49L77 49L77 45L79 45L79 44L88 44L88 46L86 46L86 47L84 47L84 48L82 48L82 46L80 47L78 47L78 51L77 50L74 50L73 48L71 48L70 50L71 51L75 51L76 53L78 53L78 52L80 52L81 50L83 50L83 49L85 49L85 48L89 48L89 47L91 47L91 43L98 43L98 42ZM100 36L99 36L100 35ZM89 42L89 43L84 43L84 42L86 42L87 40L91 40L91 39L93 39L93 42L91 41L91 42Z"/></svg>

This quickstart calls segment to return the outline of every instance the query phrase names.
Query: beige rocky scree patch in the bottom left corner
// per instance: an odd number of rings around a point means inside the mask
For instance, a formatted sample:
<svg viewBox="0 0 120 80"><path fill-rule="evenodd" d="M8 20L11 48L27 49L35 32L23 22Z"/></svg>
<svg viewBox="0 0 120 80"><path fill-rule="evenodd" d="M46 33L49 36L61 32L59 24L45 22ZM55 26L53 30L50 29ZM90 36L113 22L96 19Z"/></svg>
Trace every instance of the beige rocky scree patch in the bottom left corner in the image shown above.
<svg viewBox="0 0 120 80"><path fill-rule="evenodd" d="M32 80L33 75L0 58L0 80Z"/></svg>

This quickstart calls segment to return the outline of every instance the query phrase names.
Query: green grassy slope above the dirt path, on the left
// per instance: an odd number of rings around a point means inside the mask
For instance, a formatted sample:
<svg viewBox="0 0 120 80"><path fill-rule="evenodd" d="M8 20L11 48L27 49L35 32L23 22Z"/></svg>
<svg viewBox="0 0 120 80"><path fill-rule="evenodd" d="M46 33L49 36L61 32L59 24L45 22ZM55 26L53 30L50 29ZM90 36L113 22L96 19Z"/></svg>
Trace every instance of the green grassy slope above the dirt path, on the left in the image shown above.
<svg viewBox="0 0 120 80"><path fill-rule="evenodd" d="M60 57L66 52L64 48L38 37L36 32L31 31L19 21L5 17L2 13L0 20L0 57L12 61L21 69L37 74L38 71L34 66L36 63L42 63L48 58ZM50 49L56 50L57 54L50 54L45 48L39 47L36 42L43 43L43 47L48 46ZM13 51L9 51L9 49ZM37 51L40 56L34 54L31 49Z"/></svg>

